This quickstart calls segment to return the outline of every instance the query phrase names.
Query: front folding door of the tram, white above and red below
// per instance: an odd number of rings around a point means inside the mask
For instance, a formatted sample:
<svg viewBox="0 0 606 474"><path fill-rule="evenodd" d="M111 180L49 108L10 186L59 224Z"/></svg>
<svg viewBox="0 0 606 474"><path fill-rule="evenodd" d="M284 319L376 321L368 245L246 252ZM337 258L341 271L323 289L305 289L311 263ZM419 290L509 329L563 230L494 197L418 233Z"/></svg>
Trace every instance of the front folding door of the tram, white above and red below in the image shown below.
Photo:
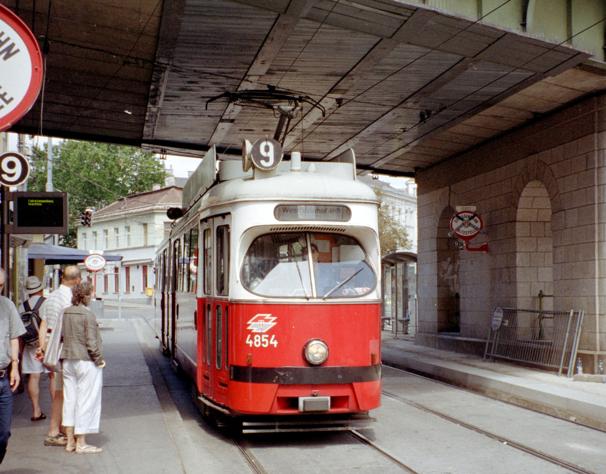
<svg viewBox="0 0 606 474"><path fill-rule="evenodd" d="M231 216L209 218L202 222L202 340L198 345L202 393L215 403L227 404L229 380L228 327L230 307ZM198 267L200 269L200 267Z"/></svg>

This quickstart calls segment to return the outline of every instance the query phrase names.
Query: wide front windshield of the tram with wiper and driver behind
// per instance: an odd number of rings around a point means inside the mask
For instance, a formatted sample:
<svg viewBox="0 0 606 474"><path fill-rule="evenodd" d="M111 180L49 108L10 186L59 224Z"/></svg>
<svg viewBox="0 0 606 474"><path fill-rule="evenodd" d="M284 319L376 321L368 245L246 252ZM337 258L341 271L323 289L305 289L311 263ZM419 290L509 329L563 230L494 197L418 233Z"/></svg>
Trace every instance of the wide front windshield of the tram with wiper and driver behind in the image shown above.
<svg viewBox="0 0 606 474"><path fill-rule="evenodd" d="M252 293L274 298L358 298L375 288L376 275L350 236L270 233L248 247L242 283Z"/></svg>

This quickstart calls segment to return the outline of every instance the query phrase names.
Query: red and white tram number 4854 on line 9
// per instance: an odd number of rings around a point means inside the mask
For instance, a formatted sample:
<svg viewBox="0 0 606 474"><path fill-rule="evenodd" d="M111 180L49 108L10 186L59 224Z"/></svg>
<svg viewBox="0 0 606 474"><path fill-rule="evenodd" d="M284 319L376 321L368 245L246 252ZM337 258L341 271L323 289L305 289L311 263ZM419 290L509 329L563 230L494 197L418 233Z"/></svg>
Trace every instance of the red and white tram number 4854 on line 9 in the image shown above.
<svg viewBox="0 0 606 474"><path fill-rule="evenodd" d="M381 404L378 201L351 150L280 162L272 142L242 163L208 152L169 211L156 333L203 412L348 427Z"/></svg>

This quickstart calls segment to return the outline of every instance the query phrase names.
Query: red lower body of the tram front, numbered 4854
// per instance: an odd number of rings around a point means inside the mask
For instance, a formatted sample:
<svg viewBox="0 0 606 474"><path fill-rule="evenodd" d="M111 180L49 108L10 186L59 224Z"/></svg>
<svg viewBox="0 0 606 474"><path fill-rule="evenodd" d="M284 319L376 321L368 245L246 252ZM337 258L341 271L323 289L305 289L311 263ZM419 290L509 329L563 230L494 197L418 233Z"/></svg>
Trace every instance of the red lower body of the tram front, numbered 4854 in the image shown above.
<svg viewBox="0 0 606 474"><path fill-rule="evenodd" d="M381 405L379 303L200 302L200 318L219 305L222 315L228 315L227 339L217 336L216 327L208 332L208 321L198 322L198 391L215 404L248 415L301 414L301 397L330 398L325 412L334 414ZM305 361L304 347L311 339L328 346L321 366ZM214 353L208 344L220 340L227 342L228 368L218 370L214 359L209 364L201 356ZM219 379L221 384L215 382Z"/></svg>

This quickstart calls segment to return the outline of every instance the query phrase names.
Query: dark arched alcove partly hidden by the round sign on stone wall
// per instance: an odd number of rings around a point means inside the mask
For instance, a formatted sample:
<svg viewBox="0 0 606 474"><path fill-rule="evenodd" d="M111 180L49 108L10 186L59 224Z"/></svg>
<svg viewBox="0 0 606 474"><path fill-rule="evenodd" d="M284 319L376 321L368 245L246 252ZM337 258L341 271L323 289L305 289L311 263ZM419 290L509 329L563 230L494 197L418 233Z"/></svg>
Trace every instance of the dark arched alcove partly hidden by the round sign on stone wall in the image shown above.
<svg viewBox="0 0 606 474"><path fill-rule="evenodd" d="M459 305L459 250L453 245L456 240L448 237L450 219L456 214L452 207L446 207L438 221L436 258L438 264L437 301L438 332L459 332L461 309Z"/></svg>

